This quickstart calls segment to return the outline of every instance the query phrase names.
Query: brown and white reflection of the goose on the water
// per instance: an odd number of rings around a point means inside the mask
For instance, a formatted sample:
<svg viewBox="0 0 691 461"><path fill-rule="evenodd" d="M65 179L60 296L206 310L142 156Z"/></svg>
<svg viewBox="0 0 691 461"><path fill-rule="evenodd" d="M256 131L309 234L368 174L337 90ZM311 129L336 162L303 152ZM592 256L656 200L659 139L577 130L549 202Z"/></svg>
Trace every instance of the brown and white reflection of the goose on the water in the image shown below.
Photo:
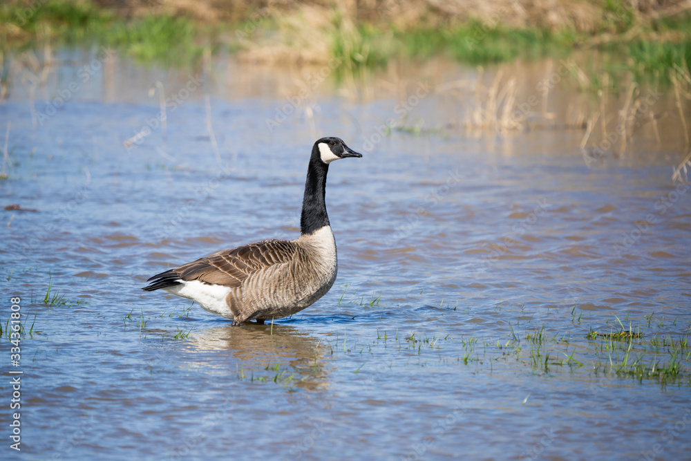
<svg viewBox="0 0 691 461"><path fill-rule="evenodd" d="M243 382L276 382L310 391L328 387L330 348L299 328L270 323L233 328L228 324L193 330L187 346L197 352L228 350L231 357L217 354L211 363ZM205 360L200 366L209 364Z"/></svg>

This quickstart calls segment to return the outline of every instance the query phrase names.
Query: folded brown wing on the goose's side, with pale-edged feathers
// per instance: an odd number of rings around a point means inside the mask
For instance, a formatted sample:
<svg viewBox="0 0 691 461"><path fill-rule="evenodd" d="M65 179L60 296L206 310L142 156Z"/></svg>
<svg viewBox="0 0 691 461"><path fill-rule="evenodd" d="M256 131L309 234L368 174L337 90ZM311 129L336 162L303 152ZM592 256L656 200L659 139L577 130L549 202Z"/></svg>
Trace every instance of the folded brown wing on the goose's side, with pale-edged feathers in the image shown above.
<svg viewBox="0 0 691 461"><path fill-rule="evenodd" d="M285 264L299 256L299 247L290 241L266 240L232 250L222 250L174 269L184 281L198 280L238 287L253 274L275 264Z"/></svg>

